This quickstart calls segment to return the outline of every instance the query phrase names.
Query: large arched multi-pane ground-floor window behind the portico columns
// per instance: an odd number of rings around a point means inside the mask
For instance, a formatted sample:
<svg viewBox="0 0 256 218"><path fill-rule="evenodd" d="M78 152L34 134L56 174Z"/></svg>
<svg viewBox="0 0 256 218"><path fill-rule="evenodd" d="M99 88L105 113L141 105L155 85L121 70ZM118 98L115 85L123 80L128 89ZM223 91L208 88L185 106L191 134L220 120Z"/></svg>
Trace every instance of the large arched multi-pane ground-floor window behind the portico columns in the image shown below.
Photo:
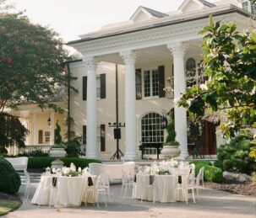
<svg viewBox="0 0 256 218"><path fill-rule="evenodd" d="M146 114L141 119L141 142L147 146L164 142L164 130L161 129L160 114Z"/></svg>

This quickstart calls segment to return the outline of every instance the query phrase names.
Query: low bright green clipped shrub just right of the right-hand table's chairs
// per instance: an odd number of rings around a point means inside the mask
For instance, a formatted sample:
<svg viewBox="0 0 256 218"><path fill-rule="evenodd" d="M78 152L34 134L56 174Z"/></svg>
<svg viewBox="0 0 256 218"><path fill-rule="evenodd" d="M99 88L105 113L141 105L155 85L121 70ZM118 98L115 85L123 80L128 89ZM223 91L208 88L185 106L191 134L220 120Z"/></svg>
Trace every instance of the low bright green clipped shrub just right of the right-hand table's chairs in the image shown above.
<svg viewBox="0 0 256 218"><path fill-rule="evenodd" d="M199 173L201 167L204 167L204 180L214 183L223 182L222 170L219 167L211 166L209 161L190 162L195 165L195 174Z"/></svg>

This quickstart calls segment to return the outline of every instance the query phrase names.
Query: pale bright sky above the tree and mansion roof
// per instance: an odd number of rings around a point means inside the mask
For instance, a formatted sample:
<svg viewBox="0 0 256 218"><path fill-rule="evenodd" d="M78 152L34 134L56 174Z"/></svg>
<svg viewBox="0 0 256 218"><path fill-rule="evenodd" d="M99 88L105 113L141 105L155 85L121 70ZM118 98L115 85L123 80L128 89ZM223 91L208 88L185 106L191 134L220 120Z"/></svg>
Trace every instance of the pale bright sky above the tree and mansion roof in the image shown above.
<svg viewBox="0 0 256 218"><path fill-rule="evenodd" d="M54 29L65 42L78 40L106 24L128 20L139 6L162 13L176 10L183 0L7 0L34 24Z"/></svg>

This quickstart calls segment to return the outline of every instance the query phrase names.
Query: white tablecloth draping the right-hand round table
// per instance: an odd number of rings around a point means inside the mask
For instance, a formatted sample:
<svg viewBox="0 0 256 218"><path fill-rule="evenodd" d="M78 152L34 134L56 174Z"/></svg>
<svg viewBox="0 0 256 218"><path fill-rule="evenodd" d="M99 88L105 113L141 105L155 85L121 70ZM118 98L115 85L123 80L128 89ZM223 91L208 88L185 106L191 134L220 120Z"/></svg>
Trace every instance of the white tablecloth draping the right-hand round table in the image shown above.
<svg viewBox="0 0 256 218"><path fill-rule="evenodd" d="M162 203L184 201L182 189L177 189L177 175L152 175L151 177L155 181L155 201ZM150 175L137 174L136 183L137 185L133 187L133 198L153 200L153 189L149 187Z"/></svg>

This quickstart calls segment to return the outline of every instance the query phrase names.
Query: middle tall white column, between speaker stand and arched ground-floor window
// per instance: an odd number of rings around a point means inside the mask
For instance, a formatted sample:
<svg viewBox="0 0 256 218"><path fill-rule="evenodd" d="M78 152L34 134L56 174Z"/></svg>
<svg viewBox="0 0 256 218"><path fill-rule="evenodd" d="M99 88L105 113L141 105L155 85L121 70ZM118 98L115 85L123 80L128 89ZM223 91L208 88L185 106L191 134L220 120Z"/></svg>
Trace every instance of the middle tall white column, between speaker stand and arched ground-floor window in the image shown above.
<svg viewBox="0 0 256 218"><path fill-rule="evenodd" d="M138 159L136 140L136 114L135 114L135 61L133 51L120 53L125 63L125 159Z"/></svg>

